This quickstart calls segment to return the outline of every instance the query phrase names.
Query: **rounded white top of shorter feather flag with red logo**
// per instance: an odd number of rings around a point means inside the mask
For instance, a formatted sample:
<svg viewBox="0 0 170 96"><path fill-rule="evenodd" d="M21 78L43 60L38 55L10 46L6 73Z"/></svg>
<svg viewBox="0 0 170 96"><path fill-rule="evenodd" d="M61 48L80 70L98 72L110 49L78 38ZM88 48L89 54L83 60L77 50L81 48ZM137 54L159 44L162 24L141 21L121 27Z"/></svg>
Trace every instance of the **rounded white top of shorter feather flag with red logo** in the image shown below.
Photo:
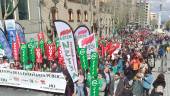
<svg viewBox="0 0 170 96"><path fill-rule="evenodd" d="M74 31L74 38L76 44L78 44L78 40L83 39L89 35L90 35L90 30L87 26L85 25L78 26Z"/></svg>

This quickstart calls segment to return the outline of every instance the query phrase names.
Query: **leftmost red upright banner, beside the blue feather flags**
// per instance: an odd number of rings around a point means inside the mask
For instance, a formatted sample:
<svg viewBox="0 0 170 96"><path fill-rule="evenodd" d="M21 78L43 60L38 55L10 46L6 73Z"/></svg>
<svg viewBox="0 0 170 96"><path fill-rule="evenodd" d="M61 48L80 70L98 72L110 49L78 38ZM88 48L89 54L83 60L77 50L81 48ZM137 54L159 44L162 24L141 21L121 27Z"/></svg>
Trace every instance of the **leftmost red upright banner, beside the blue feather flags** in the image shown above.
<svg viewBox="0 0 170 96"><path fill-rule="evenodd" d="M19 60L19 45L16 42L12 43L12 54L13 54L14 60L18 61Z"/></svg>

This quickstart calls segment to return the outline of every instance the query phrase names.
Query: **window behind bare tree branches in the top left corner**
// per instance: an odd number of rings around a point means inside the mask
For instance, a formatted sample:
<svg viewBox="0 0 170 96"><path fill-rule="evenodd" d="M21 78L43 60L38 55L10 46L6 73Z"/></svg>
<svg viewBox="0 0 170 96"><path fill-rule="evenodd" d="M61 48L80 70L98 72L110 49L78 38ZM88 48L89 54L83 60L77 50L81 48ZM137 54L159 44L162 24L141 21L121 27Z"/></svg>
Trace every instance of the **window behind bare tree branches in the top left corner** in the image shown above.
<svg viewBox="0 0 170 96"><path fill-rule="evenodd" d="M1 4L1 10L2 10L2 17L4 18L5 9L8 9L7 13L13 10L13 0L0 0L0 4ZM14 13L10 14L6 19L14 19Z"/></svg>

